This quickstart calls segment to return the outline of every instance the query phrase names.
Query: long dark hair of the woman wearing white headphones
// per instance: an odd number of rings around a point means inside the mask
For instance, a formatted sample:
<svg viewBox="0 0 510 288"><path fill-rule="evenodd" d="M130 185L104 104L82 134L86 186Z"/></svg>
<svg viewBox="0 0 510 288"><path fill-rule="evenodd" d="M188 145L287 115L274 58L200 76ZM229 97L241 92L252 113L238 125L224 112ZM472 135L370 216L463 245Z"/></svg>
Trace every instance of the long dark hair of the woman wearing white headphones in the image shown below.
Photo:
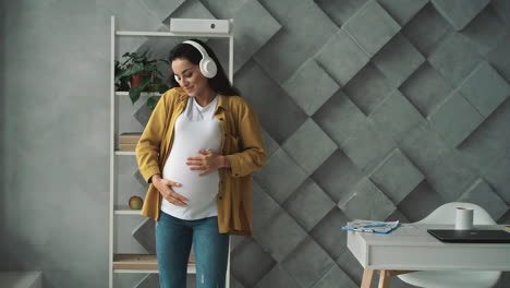
<svg viewBox="0 0 510 288"><path fill-rule="evenodd" d="M238 88L232 86L230 83L229 79L227 77L227 74L223 71L223 68L221 67L220 62L218 61L218 58L216 57L215 52L212 49L210 49L205 43L197 40L197 39L190 39L193 40L197 44L199 44L204 49L207 51L210 58L215 60L216 65L218 67L218 72L216 75L211 79L208 79L209 86L212 88L214 92L224 95L224 96L240 96L240 93ZM202 60L202 55L201 52L193 47L190 44L178 44L173 49L170 51L170 55L168 56L168 60L170 63L175 60L175 59L186 59L187 61L198 65ZM171 88L173 87L180 87L179 83L174 79L173 71L170 75L170 86Z"/></svg>

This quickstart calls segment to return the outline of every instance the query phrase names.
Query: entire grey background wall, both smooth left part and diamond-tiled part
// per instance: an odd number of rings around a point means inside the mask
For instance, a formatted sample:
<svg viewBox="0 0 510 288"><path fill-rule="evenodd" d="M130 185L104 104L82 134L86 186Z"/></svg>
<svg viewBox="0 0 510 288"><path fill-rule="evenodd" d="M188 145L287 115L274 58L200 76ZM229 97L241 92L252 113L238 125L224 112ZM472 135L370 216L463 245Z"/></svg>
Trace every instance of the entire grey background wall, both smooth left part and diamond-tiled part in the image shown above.
<svg viewBox="0 0 510 288"><path fill-rule="evenodd" d="M168 29L169 17L235 21L234 82L270 156L255 175L254 237L232 241L233 287L359 286L362 268L339 231L353 218L415 221L466 201L510 221L508 1L4 4L4 269L42 269L47 287L106 286L111 14L139 31ZM117 53L165 58L179 40L119 39ZM226 43L209 44L224 62ZM143 129L142 101L118 108L117 132ZM145 184L132 156L117 161L122 204ZM150 221L116 220L117 252L154 249ZM122 274L116 284L157 279Z"/></svg>

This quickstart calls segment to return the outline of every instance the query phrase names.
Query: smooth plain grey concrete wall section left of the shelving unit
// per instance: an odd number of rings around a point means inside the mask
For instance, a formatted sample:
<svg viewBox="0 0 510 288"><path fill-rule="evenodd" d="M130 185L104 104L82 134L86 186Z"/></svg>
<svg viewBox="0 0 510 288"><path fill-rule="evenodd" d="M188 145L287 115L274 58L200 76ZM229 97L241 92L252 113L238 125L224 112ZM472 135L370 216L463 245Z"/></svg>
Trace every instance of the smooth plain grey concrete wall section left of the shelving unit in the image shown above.
<svg viewBox="0 0 510 288"><path fill-rule="evenodd" d="M106 287L107 19L94 1L2 3L2 269Z"/></svg>

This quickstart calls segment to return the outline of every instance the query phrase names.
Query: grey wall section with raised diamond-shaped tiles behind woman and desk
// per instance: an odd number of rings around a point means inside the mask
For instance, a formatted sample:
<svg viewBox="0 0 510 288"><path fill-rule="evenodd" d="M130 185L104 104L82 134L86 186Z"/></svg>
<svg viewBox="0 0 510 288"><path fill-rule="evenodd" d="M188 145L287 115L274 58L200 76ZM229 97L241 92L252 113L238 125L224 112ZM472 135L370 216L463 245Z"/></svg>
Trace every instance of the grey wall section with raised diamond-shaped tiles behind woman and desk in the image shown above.
<svg viewBox="0 0 510 288"><path fill-rule="evenodd" d="M139 10L150 17L130 16ZM354 218L415 221L464 201L510 221L508 1L136 0L118 16L133 29L234 19L234 83L269 158L255 173L253 238L232 238L232 287L359 287L339 230ZM122 49L165 58L177 41ZM224 63L226 43L209 44ZM126 109L142 124L125 129L142 129L149 111ZM143 191L135 163L124 169ZM133 231L149 252L151 225Z"/></svg>

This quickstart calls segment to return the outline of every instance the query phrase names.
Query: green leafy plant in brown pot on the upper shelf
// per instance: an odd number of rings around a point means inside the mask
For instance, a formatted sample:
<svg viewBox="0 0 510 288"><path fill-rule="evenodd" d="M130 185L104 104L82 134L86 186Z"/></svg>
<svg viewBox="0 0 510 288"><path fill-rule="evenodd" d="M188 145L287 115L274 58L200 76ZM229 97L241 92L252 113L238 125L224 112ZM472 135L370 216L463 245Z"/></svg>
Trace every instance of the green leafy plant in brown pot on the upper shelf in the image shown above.
<svg viewBox="0 0 510 288"><path fill-rule="evenodd" d="M169 89L157 68L157 61L169 64L167 60L149 60L147 51L142 55L126 52L122 57L126 58L122 64L116 61L116 87L117 91L129 91L133 104L138 100L142 92L165 93ZM147 99L147 106L150 109L154 109L157 100L154 97Z"/></svg>

